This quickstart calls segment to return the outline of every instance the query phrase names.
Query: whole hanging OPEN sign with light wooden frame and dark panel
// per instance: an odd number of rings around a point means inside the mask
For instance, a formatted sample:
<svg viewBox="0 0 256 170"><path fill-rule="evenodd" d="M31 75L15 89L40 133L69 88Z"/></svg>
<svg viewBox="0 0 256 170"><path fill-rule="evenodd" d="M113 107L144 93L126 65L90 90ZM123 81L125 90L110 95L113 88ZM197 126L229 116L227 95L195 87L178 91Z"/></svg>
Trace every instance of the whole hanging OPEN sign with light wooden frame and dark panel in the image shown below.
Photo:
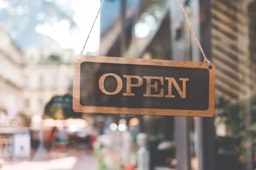
<svg viewBox="0 0 256 170"><path fill-rule="evenodd" d="M215 65L156 59L74 59L73 109L85 113L213 116Z"/></svg>

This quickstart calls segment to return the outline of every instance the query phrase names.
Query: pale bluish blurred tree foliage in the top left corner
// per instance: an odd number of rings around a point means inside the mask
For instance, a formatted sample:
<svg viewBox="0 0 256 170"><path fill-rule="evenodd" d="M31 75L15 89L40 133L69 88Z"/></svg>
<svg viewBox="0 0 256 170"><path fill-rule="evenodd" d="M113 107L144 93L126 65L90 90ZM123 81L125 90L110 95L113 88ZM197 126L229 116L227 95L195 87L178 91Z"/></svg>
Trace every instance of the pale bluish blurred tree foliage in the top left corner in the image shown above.
<svg viewBox="0 0 256 170"><path fill-rule="evenodd" d="M65 20L70 24L70 30L76 28L73 20L75 11L70 5L63 6L57 0L4 0L1 5L0 25L8 30L21 51L31 45L38 48L49 46L46 36L36 29L41 24Z"/></svg>

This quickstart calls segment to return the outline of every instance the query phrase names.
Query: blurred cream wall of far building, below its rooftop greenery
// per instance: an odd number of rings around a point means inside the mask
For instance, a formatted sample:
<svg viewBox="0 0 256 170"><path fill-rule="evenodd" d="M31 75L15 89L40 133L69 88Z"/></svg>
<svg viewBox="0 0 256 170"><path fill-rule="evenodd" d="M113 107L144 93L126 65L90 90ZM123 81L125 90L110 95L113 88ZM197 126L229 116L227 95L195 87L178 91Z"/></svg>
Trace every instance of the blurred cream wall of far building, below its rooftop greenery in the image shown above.
<svg viewBox="0 0 256 170"><path fill-rule="evenodd" d="M73 66L38 64L24 69L23 108L29 115L43 114L44 106L56 95L68 93L72 84Z"/></svg>

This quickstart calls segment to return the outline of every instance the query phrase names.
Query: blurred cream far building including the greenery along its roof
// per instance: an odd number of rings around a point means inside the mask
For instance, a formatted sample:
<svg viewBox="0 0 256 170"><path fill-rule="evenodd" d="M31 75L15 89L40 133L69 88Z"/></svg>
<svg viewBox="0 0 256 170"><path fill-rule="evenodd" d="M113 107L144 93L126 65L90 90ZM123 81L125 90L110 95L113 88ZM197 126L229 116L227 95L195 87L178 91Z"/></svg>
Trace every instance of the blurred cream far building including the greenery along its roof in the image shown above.
<svg viewBox="0 0 256 170"><path fill-rule="evenodd" d="M23 67L23 108L29 115L44 113L53 96L67 94L72 84L74 51L29 48ZM32 61L32 62L30 62Z"/></svg>

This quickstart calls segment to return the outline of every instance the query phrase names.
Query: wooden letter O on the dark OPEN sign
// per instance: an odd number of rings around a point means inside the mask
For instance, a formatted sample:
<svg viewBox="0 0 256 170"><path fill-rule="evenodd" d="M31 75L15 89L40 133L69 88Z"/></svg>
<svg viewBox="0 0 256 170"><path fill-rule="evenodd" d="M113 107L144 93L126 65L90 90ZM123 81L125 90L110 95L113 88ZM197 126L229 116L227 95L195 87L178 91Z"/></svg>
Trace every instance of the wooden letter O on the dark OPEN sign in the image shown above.
<svg viewBox="0 0 256 170"><path fill-rule="evenodd" d="M108 92L106 91L105 87L104 87L104 81L105 81L105 78L108 77L108 76L113 76L116 78L116 81L117 81L117 88L116 88L116 91L114 92ZM103 74L102 77L99 78L99 89L105 93L105 94L108 94L108 95L115 95L115 94L118 94L121 90L122 90L122 79L116 75L116 74L113 74L113 73L107 73L107 74Z"/></svg>

